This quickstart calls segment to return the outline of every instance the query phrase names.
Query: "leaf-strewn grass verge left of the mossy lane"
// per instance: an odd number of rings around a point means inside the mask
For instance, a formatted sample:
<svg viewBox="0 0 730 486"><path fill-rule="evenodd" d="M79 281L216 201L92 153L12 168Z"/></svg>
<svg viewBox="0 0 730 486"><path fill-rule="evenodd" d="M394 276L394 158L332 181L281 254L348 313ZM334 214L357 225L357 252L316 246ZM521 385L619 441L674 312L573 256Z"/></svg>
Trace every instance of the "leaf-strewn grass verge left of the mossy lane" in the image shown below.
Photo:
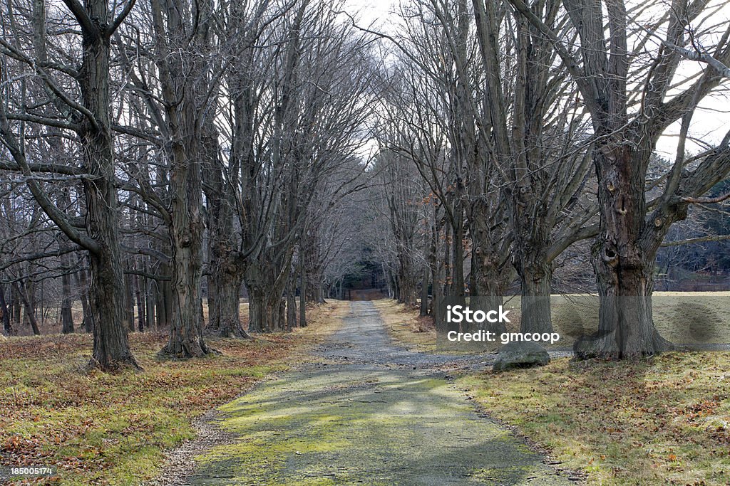
<svg viewBox="0 0 730 486"><path fill-rule="evenodd" d="M191 420L306 356L336 328L346 302L312 311L310 326L254 341L211 339L220 356L161 361L162 334L130 335L144 372L105 375L84 365L91 336L0 341L0 463L55 466L34 484L136 485L163 451L194 436ZM22 484L16 482L15 484Z"/></svg>

